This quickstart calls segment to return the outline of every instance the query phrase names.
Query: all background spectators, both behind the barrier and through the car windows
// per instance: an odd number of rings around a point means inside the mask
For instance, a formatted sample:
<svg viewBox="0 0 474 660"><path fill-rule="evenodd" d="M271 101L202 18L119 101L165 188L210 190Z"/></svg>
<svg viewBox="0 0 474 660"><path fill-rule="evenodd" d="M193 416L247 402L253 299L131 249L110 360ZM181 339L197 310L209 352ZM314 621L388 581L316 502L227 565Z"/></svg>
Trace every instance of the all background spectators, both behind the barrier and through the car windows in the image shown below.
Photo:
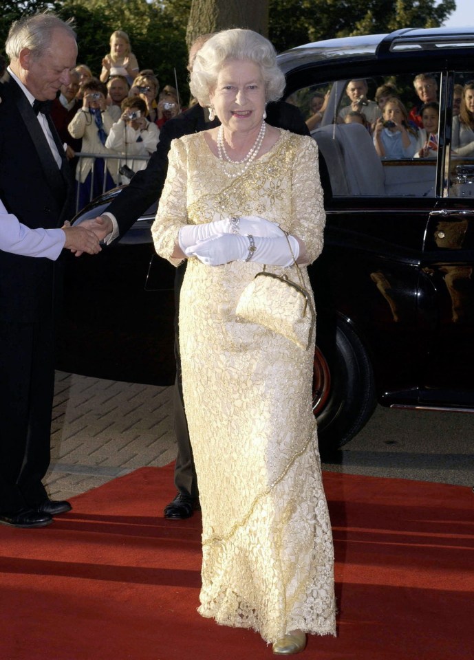
<svg viewBox="0 0 474 660"><path fill-rule="evenodd" d="M5 68L0 56L0 77ZM431 157L438 149L438 82L432 74L422 73L413 87L418 101L407 111L394 83L380 85L371 100L366 80L350 80L345 89L348 103L333 121L365 126L382 158ZM329 99L330 89L314 91L310 97L310 131L321 126ZM181 111L177 90L171 85L160 90L153 70L140 70L122 30L111 34L98 77L86 64L76 65L69 85L61 87L52 102L51 116L76 177L78 208L117 184L127 184L144 168L160 140L160 128ZM460 155L474 153L472 83L455 85L453 148ZM88 155L78 162L78 153Z"/></svg>

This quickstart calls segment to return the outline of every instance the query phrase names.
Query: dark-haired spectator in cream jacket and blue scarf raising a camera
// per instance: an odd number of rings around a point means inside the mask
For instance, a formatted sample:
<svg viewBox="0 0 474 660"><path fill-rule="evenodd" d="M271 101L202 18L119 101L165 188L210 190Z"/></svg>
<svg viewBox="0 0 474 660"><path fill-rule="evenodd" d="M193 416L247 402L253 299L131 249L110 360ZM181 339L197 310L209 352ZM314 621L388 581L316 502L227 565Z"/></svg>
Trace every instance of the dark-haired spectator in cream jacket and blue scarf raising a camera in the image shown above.
<svg viewBox="0 0 474 660"><path fill-rule="evenodd" d="M109 152L105 141L114 123L107 109L107 87L97 78L91 78L84 83L82 91L83 107L74 115L67 130L72 137L82 138L82 151L97 156L95 164L94 157L81 157L76 168L79 208L105 190L114 188L117 179L117 162L107 162L101 157Z"/></svg>

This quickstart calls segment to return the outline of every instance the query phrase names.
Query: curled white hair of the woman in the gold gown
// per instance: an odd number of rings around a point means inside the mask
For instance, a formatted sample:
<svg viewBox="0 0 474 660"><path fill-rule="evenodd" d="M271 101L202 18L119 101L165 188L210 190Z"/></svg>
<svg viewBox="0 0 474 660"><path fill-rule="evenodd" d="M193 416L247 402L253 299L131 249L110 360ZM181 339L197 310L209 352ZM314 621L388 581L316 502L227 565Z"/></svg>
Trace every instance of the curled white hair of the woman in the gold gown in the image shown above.
<svg viewBox="0 0 474 660"><path fill-rule="evenodd" d="M217 83L224 63L250 61L259 65L265 81L266 101L276 101L283 95L285 76L277 65L277 53L264 36L252 30L222 30L208 39L195 57L191 74L191 94L200 105L208 106L209 92Z"/></svg>

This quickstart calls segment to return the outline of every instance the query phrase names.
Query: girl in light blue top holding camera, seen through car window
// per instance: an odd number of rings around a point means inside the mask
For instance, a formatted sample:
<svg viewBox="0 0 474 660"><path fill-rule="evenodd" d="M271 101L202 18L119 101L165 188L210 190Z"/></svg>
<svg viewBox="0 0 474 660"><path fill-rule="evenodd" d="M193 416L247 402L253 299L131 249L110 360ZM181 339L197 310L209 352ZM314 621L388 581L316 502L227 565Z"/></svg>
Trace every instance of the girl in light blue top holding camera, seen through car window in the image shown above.
<svg viewBox="0 0 474 660"><path fill-rule="evenodd" d="M408 113L399 98L389 98L383 117L376 121L374 146L380 158L413 158L417 139L408 124Z"/></svg>

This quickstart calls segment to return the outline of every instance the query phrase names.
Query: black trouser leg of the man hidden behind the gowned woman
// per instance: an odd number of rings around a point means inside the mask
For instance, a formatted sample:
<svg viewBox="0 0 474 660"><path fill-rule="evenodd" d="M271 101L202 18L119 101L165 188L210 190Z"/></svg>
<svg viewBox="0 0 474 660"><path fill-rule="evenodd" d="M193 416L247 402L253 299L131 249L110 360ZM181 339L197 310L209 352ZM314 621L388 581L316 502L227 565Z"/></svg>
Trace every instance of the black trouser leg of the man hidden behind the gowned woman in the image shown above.
<svg viewBox="0 0 474 660"><path fill-rule="evenodd" d="M194 467L193 449L189 439L188 422L184 410L183 388L181 377L180 338L178 316L180 310L180 291L186 272L186 262L177 268L175 274L175 358L176 380L173 393L173 416L177 442L175 463L175 486L180 493L199 497L196 470Z"/></svg>

